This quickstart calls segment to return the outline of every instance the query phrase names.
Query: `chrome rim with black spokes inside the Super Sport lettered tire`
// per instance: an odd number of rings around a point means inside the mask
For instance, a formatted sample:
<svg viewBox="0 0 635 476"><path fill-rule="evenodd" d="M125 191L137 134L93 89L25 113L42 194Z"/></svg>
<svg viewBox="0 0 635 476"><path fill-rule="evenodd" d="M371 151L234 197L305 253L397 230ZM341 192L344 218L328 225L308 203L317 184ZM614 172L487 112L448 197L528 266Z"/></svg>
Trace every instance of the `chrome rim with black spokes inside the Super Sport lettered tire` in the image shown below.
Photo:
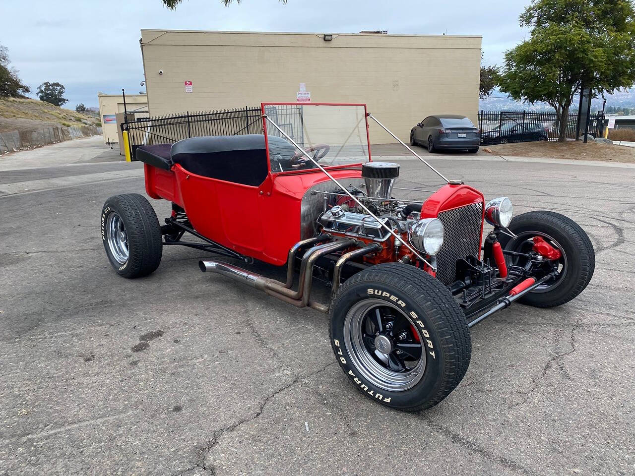
<svg viewBox="0 0 635 476"><path fill-rule="evenodd" d="M352 364L377 387L403 392L425 371L424 337L403 311L380 299L353 305L344 319L344 342Z"/></svg>

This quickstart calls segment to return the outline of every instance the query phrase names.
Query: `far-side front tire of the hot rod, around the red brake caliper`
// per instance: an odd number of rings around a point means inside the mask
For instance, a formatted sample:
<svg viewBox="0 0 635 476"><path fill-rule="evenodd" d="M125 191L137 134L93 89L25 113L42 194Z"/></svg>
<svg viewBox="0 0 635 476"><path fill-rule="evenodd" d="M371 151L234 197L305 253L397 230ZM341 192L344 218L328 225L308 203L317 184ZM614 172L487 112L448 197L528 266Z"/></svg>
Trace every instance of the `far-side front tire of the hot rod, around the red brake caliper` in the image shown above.
<svg viewBox="0 0 635 476"><path fill-rule="evenodd" d="M530 240L540 236L561 252L561 258L553 263L558 267L558 276L525 294L520 299L522 303L534 307L555 307L584 291L595 270L595 251L580 225L565 215L540 210L514 216L509 229L517 238L501 234L500 245L504 249L525 252L531 247ZM508 259L510 264L516 264L513 258Z"/></svg>

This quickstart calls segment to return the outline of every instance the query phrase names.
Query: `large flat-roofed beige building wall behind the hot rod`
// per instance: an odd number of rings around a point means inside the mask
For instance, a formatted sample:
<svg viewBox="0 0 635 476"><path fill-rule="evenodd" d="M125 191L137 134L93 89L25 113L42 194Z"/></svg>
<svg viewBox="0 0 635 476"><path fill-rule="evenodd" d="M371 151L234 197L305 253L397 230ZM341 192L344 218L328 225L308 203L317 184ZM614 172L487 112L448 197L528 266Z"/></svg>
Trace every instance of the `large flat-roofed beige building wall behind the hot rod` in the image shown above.
<svg viewBox="0 0 635 476"><path fill-rule="evenodd" d="M295 102L299 83L311 102L366 103L403 140L429 114L478 116L479 36L142 30L141 45L152 116Z"/></svg>

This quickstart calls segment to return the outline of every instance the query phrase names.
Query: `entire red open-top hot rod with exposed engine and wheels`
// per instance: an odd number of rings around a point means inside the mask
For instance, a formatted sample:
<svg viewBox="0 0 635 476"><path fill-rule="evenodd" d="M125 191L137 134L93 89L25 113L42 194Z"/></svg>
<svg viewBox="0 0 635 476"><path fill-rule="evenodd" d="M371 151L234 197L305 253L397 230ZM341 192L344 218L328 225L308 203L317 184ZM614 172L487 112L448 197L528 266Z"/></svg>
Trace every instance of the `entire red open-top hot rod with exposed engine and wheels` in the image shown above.
<svg viewBox="0 0 635 476"><path fill-rule="evenodd" d="M516 300L561 305L591 280L594 250L574 221L551 211L512 218L507 197L486 203L447 180L365 105L271 103L262 117L264 135L137 149L147 194L172 202L172 214L161 226L141 195L105 202L102 240L118 274L150 274L174 244L286 263L285 282L222 261L199 267L328 312L331 346L355 387L409 411L457 387L471 357L469 327ZM423 200L395 199L395 190L426 191L395 187L399 165L371 161L368 119L445 185ZM493 226L485 239L484 221ZM182 240L186 233L197 240ZM330 282L330 303L311 299L315 277Z"/></svg>

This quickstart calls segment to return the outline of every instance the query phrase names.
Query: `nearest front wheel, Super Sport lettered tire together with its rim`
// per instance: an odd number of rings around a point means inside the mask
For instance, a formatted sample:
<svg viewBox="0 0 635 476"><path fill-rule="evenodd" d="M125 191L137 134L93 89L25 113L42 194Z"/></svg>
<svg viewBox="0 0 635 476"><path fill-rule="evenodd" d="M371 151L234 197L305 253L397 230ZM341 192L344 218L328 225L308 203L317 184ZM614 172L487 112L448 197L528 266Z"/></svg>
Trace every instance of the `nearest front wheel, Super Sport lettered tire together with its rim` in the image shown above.
<svg viewBox="0 0 635 476"><path fill-rule="evenodd" d="M445 399L472 354L465 315L448 289L401 263L366 268L346 281L331 300L329 331L355 387L404 411Z"/></svg>

